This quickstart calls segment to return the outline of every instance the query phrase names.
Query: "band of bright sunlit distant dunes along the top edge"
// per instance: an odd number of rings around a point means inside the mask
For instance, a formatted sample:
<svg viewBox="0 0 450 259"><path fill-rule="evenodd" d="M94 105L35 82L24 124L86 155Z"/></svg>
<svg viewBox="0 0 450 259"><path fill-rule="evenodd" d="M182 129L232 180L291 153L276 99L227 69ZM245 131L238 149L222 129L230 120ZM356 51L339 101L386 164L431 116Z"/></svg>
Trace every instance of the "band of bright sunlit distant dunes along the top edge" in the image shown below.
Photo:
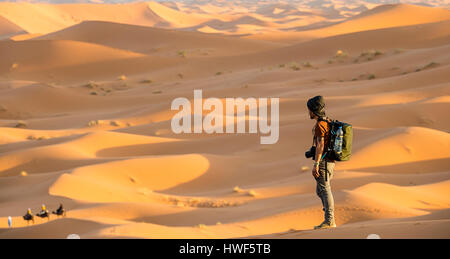
<svg viewBox="0 0 450 259"><path fill-rule="evenodd" d="M447 8L447 1L415 1L415 6L385 5L378 8L375 8L378 4L388 1L269 1L258 4L251 1L108 1L123 3L111 5L100 2L82 4L85 1L67 1L64 4L57 1L57 5L43 2L0 2L0 37L21 35L15 39L27 39L95 20L212 34L247 35L270 41L291 39L294 42L358 30L440 21L449 19L450 12L427 7ZM272 36L275 34L277 37Z"/></svg>

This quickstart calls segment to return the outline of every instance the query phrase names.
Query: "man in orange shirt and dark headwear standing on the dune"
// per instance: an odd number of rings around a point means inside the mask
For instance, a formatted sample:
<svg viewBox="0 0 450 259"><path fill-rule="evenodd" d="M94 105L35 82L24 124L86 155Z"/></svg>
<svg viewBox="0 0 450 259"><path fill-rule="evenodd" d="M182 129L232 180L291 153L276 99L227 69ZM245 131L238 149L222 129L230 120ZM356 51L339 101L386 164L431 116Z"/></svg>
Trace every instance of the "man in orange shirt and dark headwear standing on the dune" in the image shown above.
<svg viewBox="0 0 450 259"><path fill-rule="evenodd" d="M316 179L316 193L322 201L323 211L325 212L325 220L320 225L315 226L314 229L334 228L336 227L334 199L330 182L333 178L335 163L327 157L326 153L331 140L329 119L325 114L325 102L322 96L309 99L307 106L310 118L316 120L313 128L313 147L310 150L312 154L309 156L312 156L314 160L312 175Z"/></svg>

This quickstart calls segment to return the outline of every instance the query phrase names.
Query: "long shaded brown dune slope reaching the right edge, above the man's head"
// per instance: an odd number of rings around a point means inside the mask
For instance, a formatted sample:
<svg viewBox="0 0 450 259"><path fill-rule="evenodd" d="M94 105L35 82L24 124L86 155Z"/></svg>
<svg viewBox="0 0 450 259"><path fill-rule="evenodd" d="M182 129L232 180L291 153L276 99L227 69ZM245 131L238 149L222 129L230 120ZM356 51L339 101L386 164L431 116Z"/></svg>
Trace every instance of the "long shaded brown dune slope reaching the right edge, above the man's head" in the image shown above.
<svg viewBox="0 0 450 259"><path fill-rule="evenodd" d="M363 51L370 49L395 50L442 46L448 43L449 40L450 30L448 25L449 21L444 21L420 26L405 26L327 37L292 44L277 50L268 50L265 53L249 54L251 57L249 62L267 64L270 60L274 64L275 62L310 61L322 58L326 63L329 60L333 60L338 50L345 51L351 57L357 58ZM420 38L417 37L417 33L421 34ZM395 37L396 40L389 40L392 37ZM341 60L342 62L352 62L354 59L351 57L342 58ZM337 62L341 61L337 60Z"/></svg>

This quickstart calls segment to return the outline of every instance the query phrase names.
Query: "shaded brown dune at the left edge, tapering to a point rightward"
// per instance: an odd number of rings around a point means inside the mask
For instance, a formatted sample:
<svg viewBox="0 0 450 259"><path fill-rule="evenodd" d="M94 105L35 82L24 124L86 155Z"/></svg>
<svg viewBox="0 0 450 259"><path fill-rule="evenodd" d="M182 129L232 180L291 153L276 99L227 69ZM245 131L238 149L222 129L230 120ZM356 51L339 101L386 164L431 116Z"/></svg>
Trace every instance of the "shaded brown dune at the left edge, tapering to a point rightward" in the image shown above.
<svg viewBox="0 0 450 259"><path fill-rule="evenodd" d="M180 57L168 59L147 56L128 50L70 40L3 41L0 42L0 49L5 53L0 63L3 74L9 74L13 78L27 80L34 78L46 82L62 80L58 75L64 74L63 71L67 73L64 78L72 78L84 84L99 76L118 81L122 75L148 71L155 66L167 67L168 64L178 63L181 60ZM67 53L77 53L77 58L68 56ZM147 66L141 66L139 69L136 68L140 66L138 64ZM102 70L103 75L99 71L92 70L93 68ZM76 71L80 69L83 72L77 74Z"/></svg>

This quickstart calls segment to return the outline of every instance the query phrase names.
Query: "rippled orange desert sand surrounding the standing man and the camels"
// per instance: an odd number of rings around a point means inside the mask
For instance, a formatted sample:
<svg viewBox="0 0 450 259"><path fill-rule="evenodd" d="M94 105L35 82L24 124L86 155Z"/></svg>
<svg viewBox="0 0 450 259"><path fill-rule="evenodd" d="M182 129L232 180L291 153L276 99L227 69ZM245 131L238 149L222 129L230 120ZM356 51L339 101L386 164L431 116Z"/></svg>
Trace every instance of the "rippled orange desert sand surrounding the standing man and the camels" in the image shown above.
<svg viewBox="0 0 450 259"><path fill-rule="evenodd" d="M1 2L0 238L450 238L450 10L244 2ZM278 143L174 134L194 89L280 98ZM331 230L315 95L354 126Z"/></svg>

